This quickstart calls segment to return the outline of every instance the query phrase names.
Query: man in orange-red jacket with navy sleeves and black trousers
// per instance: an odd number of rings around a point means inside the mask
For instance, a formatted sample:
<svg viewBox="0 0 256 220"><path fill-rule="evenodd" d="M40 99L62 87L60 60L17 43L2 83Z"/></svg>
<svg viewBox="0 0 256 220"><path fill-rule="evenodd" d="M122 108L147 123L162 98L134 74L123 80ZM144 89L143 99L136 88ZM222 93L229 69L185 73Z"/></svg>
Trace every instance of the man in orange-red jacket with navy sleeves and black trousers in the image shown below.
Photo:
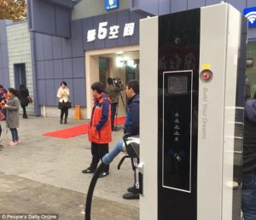
<svg viewBox="0 0 256 220"><path fill-rule="evenodd" d="M94 173L98 162L108 153L108 143L112 141L111 106L108 96L103 92L104 86L100 82L91 84L94 106L88 126L89 142L91 142L92 160L90 166L82 173ZM109 165L106 165L100 177L109 174Z"/></svg>

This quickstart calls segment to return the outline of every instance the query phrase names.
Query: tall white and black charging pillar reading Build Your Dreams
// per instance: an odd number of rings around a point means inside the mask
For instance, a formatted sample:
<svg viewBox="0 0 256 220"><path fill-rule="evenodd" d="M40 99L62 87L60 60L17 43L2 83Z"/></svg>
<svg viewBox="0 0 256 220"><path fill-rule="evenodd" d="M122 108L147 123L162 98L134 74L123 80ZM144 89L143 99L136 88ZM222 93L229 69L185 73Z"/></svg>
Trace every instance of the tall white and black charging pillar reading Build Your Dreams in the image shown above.
<svg viewBox="0 0 256 220"><path fill-rule="evenodd" d="M141 20L141 220L240 219L246 40L228 3Z"/></svg>

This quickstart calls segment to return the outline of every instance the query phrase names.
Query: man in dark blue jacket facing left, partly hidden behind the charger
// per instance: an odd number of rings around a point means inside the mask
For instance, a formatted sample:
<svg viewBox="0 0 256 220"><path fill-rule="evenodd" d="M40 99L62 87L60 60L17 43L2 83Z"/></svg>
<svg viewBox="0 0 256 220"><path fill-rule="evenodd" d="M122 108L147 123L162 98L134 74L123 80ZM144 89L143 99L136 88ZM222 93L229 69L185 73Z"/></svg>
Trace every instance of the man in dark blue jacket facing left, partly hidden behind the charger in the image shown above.
<svg viewBox="0 0 256 220"><path fill-rule="evenodd" d="M139 83L137 80L131 80L127 83L125 88L125 93L128 98L128 111L125 120L125 134L131 134L131 136L139 135L139 121L140 121L140 96L139 96ZM119 141L117 145L123 146L124 142ZM115 148L117 148L117 145ZM134 167L133 167L134 169ZM124 194L123 198L125 200L137 200L139 199L139 193L135 184L133 187L127 189L129 193Z"/></svg>

